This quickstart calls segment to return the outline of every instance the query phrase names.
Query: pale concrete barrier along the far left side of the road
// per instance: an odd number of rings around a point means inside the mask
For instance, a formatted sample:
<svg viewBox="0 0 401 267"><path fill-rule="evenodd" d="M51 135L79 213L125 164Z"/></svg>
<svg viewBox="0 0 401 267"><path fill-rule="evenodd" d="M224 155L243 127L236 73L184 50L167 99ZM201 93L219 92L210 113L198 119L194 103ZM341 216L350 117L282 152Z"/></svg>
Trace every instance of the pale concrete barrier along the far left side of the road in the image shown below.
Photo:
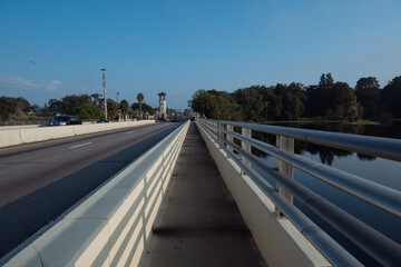
<svg viewBox="0 0 401 267"><path fill-rule="evenodd" d="M90 123L76 126L30 127L19 129L0 129L0 147L9 147L28 142L45 141L57 138L115 130L139 125L154 123L155 120L139 120L110 123Z"/></svg>

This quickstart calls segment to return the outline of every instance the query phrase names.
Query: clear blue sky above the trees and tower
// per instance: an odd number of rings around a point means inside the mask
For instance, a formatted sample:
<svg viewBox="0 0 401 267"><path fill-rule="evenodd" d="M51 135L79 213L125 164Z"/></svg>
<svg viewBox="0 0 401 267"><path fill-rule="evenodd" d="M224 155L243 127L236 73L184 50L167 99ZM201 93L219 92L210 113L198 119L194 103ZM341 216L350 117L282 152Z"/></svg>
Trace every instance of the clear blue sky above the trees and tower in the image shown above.
<svg viewBox="0 0 401 267"><path fill-rule="evenodd" d="M0 96L184 109L198 89L401 75L399 0L0 0Z"/></svg>

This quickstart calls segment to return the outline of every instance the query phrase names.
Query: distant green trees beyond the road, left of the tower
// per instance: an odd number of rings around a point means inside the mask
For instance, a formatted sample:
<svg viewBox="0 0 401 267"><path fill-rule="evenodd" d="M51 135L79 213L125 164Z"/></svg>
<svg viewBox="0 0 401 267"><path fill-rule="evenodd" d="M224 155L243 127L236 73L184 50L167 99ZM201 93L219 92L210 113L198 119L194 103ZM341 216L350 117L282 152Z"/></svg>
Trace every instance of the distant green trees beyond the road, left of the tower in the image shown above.
<svg viewBox="0 0 401 267"><path fill-rule="evenodd" d="M149 115L155 113L155 109L144 102L145 96L139 92L137 96L138 102L129 105L128 100L124 99L116 102L113 99L107 99L107 115L108 118L114 120L134 116L141 118L145 112ZM0 98L0 119L1 120L21 120L29 119L28 112L32 109L39 108L37 105L30 105L29 101L22 97ZM79 119L99 119L104 115L104 98L99 93L94 95L70 95L61 99L52 98L45 105L46 110L49 112L74 115Z"/></svg>

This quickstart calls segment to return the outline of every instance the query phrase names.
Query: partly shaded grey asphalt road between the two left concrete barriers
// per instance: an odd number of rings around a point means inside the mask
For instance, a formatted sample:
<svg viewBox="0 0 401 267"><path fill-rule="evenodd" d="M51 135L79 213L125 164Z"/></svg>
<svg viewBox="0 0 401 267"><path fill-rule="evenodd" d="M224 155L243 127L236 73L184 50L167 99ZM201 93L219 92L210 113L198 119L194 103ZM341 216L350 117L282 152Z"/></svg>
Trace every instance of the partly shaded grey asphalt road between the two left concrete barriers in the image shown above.
<svg viewBox="0 0 401 267"><path fill-rule="evenodd" d="M0 258L179 125L138 126L0 149Z"/></svg>

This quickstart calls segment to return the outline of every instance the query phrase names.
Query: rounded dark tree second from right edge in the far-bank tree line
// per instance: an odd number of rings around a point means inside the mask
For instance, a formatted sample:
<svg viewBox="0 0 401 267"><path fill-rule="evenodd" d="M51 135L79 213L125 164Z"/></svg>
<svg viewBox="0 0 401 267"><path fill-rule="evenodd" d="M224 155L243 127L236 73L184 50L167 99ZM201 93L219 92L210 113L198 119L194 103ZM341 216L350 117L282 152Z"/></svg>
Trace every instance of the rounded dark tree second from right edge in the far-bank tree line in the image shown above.
<svg viewBox="0 0 401 267"><path fill-rule="evenodd" d="M355 95L363 107L365 118L375 118L380 111L380 85L375 77L361 78L356 81Z"/></svg>

